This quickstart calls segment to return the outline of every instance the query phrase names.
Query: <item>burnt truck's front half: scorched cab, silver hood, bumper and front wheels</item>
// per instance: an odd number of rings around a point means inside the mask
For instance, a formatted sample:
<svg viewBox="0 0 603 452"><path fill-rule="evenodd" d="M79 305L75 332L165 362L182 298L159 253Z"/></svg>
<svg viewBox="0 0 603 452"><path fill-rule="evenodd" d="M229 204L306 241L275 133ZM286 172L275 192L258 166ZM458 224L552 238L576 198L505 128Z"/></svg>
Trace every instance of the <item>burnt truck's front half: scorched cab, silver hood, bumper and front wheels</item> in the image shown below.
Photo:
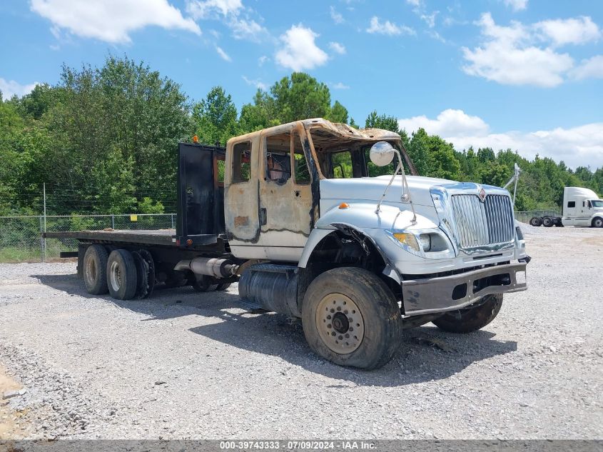
<svg viewBox="0 0 603 452"><path fill-rule="evenodd" d="M379 166L376 148L398 161ZM410 175L392 176L397 169ZM360 352L353 323L367 331L371 318L389 316L399 323L392 331L429 321L474 331L502 293L527 287L509 192L418 176L390 131L307 119L230 139L224 218L230 251L248 262L240 296L303 318L310 346L336 363L370 368L390 353ZM342 309L349 314L335 318ZM480 310L489 314L476 323Z"/></svg>

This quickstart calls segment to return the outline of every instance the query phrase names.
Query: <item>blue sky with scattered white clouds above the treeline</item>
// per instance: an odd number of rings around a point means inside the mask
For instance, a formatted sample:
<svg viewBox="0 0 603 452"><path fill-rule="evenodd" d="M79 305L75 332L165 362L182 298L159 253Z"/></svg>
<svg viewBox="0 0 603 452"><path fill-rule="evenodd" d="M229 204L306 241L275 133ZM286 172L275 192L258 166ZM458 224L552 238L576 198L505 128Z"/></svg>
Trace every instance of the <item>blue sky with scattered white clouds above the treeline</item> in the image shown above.
<svg viewBox="0 0 603 452"><path fill-rule="evenodd" d="M490 146L603 166L600 0L3 0L0 90L61 65L127 55L191 101L223 86L240 109L292 71L456 149Z"/></svg>

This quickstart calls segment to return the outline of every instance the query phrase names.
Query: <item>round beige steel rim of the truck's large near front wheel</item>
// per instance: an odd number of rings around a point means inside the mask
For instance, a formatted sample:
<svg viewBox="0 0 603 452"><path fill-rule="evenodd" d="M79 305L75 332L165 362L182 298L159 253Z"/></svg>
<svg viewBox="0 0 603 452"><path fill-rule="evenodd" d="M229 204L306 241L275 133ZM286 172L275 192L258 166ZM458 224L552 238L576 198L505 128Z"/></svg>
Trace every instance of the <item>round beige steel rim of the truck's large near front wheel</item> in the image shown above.
<svg viewBox="0 0 603 452"><path fill-rule="evenodd" d="M315 320L318 335L335 353L352 353L363 341L363 315L358 305L343 293L330 293L320 300Z"/></svg>

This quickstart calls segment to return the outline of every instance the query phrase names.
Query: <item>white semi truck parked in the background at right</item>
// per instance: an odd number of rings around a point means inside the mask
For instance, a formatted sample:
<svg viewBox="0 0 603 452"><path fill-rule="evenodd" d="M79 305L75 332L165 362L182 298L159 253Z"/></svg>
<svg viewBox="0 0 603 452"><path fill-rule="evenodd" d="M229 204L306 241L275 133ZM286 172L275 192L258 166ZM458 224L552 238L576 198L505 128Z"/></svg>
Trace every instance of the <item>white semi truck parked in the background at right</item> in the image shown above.
<svg viewBox="0 0 603 452"><path fill-rule="evenodd" d="M590 226L603 228L603 199L594 191L582 187L563 189L562 216L534 216L532 226Z"/></svg>

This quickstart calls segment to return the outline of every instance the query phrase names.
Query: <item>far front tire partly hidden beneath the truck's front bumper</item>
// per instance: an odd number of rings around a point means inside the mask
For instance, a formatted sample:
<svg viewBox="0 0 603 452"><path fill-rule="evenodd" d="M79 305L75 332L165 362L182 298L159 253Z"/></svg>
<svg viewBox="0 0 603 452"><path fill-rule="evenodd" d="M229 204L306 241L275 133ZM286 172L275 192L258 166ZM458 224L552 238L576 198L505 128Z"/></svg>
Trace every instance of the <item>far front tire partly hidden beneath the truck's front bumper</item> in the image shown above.
<svg viewBox="0 0 603 452"><path fill-rule="evenodd" d="M487 295L475 307L451 311L436 318L432 323L449 333L472 333L494 320L502 306L502 293Z"/></svg>

